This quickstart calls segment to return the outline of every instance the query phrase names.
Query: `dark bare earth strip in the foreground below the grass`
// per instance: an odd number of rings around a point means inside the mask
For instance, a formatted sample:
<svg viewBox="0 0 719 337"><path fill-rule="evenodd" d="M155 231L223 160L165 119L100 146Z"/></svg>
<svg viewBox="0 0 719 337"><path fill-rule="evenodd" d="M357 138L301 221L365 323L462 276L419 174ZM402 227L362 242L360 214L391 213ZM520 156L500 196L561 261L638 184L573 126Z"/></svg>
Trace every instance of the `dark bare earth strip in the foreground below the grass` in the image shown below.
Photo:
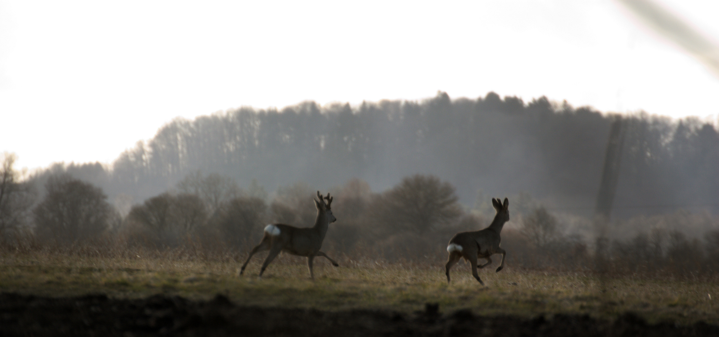
<svg viewBox="0 0 719 337"><path fill-rule="evenodd" d="M383 310L321 311L240 307L155 295L139 300L106 295L48 298L0 294L0 336L719 336L719 326L648 325L631 313L615 321L587 315L527 319L481 317L470 310L413 314Z"/></svg>

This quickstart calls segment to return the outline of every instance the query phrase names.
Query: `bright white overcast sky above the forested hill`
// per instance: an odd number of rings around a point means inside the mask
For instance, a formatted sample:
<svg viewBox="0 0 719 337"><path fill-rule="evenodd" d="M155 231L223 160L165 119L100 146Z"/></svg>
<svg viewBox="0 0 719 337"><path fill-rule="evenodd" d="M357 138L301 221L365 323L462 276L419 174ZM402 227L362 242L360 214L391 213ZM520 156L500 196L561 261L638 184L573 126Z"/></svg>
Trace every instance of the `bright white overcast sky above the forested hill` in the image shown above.
<svg viewBox="0 0 719 337"><path fill-rule="evenodd" d="M659 3L719 40L719 1ZM16 168L109 163L176 116L438 90L719 116L719 79L610 0L0 0Z"/></svg>

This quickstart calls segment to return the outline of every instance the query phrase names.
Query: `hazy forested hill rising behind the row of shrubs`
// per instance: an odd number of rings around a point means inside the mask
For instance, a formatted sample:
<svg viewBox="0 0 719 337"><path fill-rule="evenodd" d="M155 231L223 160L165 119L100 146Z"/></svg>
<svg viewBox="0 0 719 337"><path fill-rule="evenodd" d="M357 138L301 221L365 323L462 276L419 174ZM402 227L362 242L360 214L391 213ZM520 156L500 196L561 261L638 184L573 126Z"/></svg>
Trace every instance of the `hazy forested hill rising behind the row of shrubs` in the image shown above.
<svg viewBox="0 0 719 337"><path fill-rule="evenodd" d="M65 170L100 185L111 199L124 193L135 203L196 170L233 177L243 188L257 179L268 191L298 182L326 190L358 177L380 192L423 173L456 186L466 206L480 193L487 199L528 193L551 208L588 215L614 118L544 97L526 103L495 93L357 107L303 102L175 119L120 154L111 170ZM627 125L613 214L719 212L714 126L647 114Z"/></svg>

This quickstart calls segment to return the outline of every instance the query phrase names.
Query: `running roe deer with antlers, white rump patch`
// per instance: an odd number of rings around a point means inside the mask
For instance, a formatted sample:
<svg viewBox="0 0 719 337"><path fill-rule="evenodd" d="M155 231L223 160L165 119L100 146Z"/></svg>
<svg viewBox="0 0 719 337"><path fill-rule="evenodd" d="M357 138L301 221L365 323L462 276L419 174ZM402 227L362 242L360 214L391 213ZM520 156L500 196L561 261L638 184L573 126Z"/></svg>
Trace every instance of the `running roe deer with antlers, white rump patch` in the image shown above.
<svg viewBox="0 0 719 337"><path fill-rule="evenodd" d="M312 260L315 257L325 257L332 262L334 267L339 267L339 264L333 259L324 254L319 249L322 246L324 235L327 233L327 227L330 223L333 223L337 219L332 215L330 205L332 203L332 197L327 193L326 197L317 191L317 197L319 201L314 199L315 206L317 208L317 219L315 225L311 228L297 228L293 226L283 225L281 223L275 223L273 225L267 225L265 227L265 235L262 236L260 244L255 246L252 251L249 252L247 261L242 264L242 269L239 270L239 274L242 275L244 267L247 267L247 262L255 255L257 251L269 250L270 254L267 255L265 263L262 264L260 269L260 277L265 272L265 268L275 257L280 254L280 251L285 251L293 255L301 257L307 257L307 267L310 269L310 277L314 281L314 274L312 273ZM324 200L327 200L327 203Z"/></svg>

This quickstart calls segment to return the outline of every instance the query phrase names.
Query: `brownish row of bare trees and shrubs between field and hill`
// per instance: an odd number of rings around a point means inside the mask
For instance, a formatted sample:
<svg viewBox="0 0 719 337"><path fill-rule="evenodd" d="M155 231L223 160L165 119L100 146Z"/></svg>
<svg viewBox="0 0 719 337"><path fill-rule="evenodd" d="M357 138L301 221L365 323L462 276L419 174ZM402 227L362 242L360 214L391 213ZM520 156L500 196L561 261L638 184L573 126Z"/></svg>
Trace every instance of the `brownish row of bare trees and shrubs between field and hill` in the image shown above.
<svg viewBox="0 0 719 337"><path fill-rule="evenodd" d="M134 257L149 249L241 262L265 224L311 226L316 218L316 191L306 184L282 186L270 198L256 181L242 189L231 177L201 172L134 204L122 216L91 183L66 173L52 175L45 192L38 193L14 180L17 172L8 162L0 172L5 177L0 251L80 249ZM440 265L454 234L485 228L493 218L488 201L464 208L454 186L434 175L404 177L379 193L355 178L329 192L338 221L330 225L323 250L340 259ZM606 238L597 236L589 219L547 211L526 194L510 196L510 216L502 234L510 267L649 277L719 275L719 217L710 213L628 218L613 223Z"/></svg>

